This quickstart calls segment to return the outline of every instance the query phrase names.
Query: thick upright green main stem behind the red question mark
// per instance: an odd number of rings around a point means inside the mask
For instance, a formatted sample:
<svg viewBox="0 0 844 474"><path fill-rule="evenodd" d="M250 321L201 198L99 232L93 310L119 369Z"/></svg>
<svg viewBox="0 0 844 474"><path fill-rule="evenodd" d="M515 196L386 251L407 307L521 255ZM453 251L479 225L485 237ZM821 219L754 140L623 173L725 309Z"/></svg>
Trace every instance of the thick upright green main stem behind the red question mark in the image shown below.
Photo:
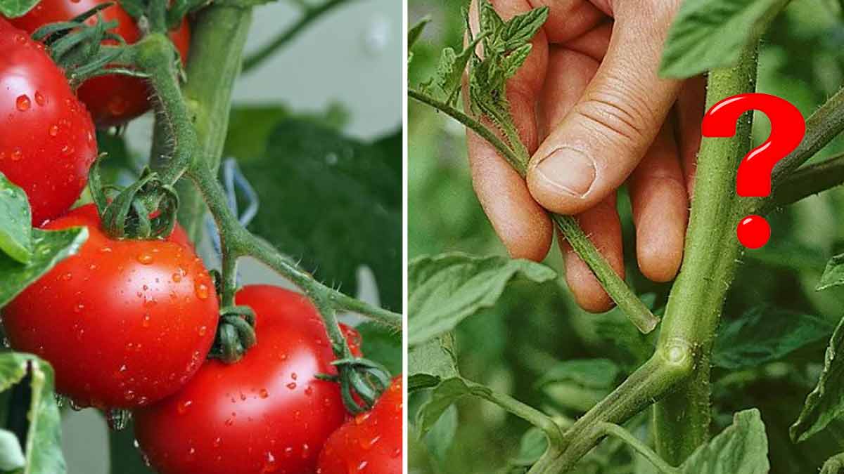
<svg viewBox="0 0 844 474"><path fill-rule="evenodd" d="M755 89L756 50L744 51L738 66L712 71L707 109L718 100ZM657 451L677 466L709 439L710 352L724 298L741 247L736 225L735 176L750 148L752 115L739 119L728 138L704 138L698 154L695 197L680 269L663 318L658 347L678 342L695 350L695 369L679 390L654 408Z"/></svg>

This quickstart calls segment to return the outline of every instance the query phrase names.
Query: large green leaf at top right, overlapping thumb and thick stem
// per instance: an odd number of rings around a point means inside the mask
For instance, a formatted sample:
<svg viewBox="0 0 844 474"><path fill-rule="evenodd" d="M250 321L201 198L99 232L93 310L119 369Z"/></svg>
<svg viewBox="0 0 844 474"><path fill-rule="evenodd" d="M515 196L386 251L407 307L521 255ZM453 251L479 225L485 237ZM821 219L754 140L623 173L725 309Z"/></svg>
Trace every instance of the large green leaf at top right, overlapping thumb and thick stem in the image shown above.
<svg viewBox="0 0 844 474"><path fill-rule="evenodd" d="M659 73L690 78L732 66L788 0L686 0L668 31Z"/></svg>

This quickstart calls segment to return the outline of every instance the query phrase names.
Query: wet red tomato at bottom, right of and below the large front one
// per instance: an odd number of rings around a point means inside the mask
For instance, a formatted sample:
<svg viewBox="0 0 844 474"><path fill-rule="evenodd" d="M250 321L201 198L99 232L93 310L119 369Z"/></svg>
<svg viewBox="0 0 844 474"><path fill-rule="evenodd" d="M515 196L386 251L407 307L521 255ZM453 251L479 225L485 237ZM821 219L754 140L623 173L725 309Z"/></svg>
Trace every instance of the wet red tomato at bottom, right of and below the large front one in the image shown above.
<svg viewBox="0 0 844 474"><path fill-rule="evenodd" d="M134 413L160 474L306 474L344 422L331 344L305 296L272 286L236 295L256 313L257 345L237 364L208 361L185 388Z"/></svg>

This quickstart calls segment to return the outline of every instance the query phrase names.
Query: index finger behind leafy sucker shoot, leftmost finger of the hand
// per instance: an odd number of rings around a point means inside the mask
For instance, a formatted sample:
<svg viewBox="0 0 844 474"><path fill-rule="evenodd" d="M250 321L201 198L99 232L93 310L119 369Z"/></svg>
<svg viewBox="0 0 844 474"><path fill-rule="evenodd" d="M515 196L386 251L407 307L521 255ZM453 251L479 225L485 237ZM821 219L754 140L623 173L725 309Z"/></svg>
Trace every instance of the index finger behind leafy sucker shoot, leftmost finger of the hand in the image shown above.
<svg viewBox="0 0 844 474"><path fill-rule="evenodd" d="M511 1L495 2L495 8L503 18L509 19L529 10L530 6L524 1ZM470 8L470 24L473 31L477 32L476 3ZM534 104L544 78L547 55L547 40L540 32L533 39L533 50L524 66L511 78L506 88L511 116L522 142L531 151L537 146ZM466 89L464 81L464 99L468 97ZM490 127L490 124L487 123L487 126ZM544 209L530 196L522 177L500 157L490 143L474 132L468 132L467 145L473 187L495 233L513 258L542 260L548 254L554 233Z"/></svg>

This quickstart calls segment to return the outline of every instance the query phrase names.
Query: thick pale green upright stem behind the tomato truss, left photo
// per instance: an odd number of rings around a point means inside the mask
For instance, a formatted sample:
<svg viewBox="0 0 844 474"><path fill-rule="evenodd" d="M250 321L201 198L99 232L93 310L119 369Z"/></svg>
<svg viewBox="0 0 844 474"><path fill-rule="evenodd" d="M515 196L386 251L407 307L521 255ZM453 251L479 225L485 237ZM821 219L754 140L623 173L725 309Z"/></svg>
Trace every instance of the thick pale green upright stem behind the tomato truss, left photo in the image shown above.
<svg viewBox="0 0 844 474"><path fill-rule="evenodd" d="M212 5L197 13L193 24L187 83L182 89L196 129L203 160L216 174L229 127L231 91L240 73L246 34L252 24L252 8ZM170 132L156 121L152 156L160 168L168 168ZM205 204L191 183L178 183L179 222L192 240L202 234Z"/></svg>

